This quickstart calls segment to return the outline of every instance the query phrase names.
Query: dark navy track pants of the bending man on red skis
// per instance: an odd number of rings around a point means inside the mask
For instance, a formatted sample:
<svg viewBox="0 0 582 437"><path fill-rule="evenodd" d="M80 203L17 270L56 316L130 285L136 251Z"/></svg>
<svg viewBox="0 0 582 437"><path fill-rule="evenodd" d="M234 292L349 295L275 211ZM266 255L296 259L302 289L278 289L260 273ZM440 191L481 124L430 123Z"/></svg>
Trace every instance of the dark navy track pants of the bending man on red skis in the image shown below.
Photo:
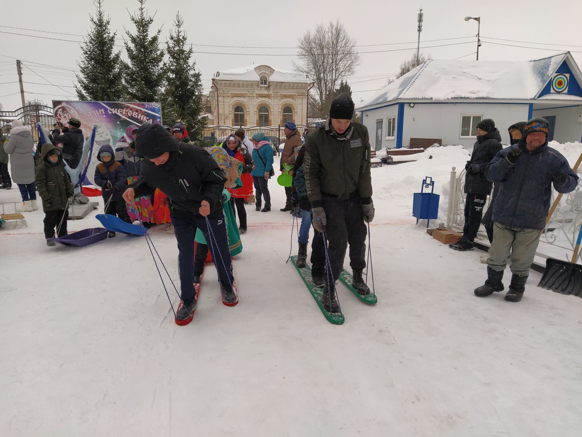
<svg viewBox="0 0 582 437"><path fill-rule="evenodd" d="M222 211L208 216L208 222L217 240L218 248L210 235L208 235L206 220L203 216L171 212L170 217L174 225L176 240L178 240L178 269L180 272L182 300L196 296L192 279L194 276L194 237L196 237L197 228L200 228L208 246L211 248L212 259L218 273L218 281L222 283L228 283L229 280L233 281L230 246L226 235L226 221Z"/></svg>

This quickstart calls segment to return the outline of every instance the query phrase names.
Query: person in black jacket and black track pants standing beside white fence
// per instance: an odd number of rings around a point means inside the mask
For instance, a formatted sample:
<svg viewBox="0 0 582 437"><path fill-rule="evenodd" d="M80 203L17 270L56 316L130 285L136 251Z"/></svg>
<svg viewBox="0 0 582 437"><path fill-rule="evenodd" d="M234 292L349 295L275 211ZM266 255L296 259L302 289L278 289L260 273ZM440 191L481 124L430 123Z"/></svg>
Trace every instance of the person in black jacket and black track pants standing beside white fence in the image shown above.
<svg viewBox="0 0 582 437"><path fill-rule="evenodd" d="M463 227L463 237L449 247L456 251L470 251L473 249L473 241L477 237L477 231L481 226L483 207L485 200L491 193L493 186L485 177L487 165L495 157L501 145L501 134L495 127L495 122L491 118L485 118L477 124L477 141L473 146L471 159L467 161L465 170L465 225Z"/></svg>

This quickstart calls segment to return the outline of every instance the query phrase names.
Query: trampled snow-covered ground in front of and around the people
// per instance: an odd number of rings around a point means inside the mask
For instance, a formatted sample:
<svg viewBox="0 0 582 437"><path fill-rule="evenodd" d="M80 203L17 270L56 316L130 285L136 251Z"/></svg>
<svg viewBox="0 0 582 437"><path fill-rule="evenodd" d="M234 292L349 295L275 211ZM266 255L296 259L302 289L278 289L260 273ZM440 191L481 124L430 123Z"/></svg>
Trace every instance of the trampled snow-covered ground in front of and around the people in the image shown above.
<svg viewBox="0 0 582 437"><path fill-rule="evenodd" d="M582 435L582 299L535 287L535 272L519 304L475 297L480 252L450 250L411 216L427 175L446 211L467 151L417 156L372 168L378 304L339 286L341 326L285 264L292 216L275 179L274 211L247 209L239 305L222 305L210 266L185 327L143 238L49 248L40 210L1 230L0 435ZM17 189L0 190L8 200ZM91 214L69 231L98 225ZM150 232L177 280L175 238Z"/></svg>

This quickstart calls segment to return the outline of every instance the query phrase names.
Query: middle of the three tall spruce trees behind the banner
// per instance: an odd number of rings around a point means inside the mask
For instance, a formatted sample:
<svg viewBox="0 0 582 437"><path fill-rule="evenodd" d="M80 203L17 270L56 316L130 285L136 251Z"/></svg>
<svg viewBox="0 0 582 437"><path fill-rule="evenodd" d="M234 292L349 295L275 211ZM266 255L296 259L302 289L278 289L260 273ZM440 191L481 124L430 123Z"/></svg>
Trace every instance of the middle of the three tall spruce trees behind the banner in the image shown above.
<svg viewBox="0 0 582 437"><path fill-rule="evenodd" d="M138 12L134 15L129 14L136 31L133 34L129 30L125 31L129 38L129 41L125 41L129 65L126 65L123 71L123 82L127 87L127 98L130 101L153 102L157 100L164 82L161 68L164 50L159 48L159 34L162 30L158 29L150 36L150 26L154 22L154 17L148 16L145 10L146 0L137 1L140 3Z"/></svg>

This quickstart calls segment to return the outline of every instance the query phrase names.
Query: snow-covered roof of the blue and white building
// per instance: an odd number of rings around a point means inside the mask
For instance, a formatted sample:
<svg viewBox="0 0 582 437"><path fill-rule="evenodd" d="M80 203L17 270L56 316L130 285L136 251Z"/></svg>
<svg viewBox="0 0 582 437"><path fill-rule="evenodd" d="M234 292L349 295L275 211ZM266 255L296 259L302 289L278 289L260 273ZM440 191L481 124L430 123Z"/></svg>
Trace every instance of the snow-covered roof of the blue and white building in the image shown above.
<svg viewBox="0 0 582 437"><path fill-rule="evenodd" d="M564 67L564 64L566 65ZM560 71L564 69L564 71ZM556 73L566 73L566 92L552 90ZM582 77L570 52L531 61L449 61L428 59L363 101L367 110L406 99L581 100ZM556 80L559 80L556 79ZM561 83L561 82L560 82ZM559 87L558 87L559 89Z"/></svg>

